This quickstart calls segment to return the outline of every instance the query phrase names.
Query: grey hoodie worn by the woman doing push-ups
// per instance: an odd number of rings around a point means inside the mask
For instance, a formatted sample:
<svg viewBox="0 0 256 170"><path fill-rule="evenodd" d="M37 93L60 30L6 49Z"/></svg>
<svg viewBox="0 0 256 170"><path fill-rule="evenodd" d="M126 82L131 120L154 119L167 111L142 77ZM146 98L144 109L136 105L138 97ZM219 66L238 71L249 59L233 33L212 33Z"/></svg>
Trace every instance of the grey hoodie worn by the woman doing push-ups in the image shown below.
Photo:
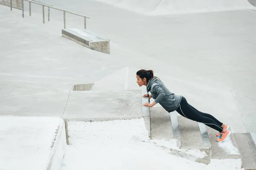
<svg viewBox="0 0 256 170"><path fill-rule="evenodd" d="M175 111L180 105L181 96L171 93L163 82L154 77L148 81L147 91L150 91L154 102L158 103L169 113Z"/></svg>

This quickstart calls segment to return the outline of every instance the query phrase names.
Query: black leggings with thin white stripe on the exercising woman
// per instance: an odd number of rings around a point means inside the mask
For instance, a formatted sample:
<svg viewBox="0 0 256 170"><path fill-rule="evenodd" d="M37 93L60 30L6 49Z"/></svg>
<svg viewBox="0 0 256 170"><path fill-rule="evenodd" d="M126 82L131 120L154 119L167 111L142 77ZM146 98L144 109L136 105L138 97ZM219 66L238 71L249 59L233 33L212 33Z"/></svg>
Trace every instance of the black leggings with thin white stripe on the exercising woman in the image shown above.
<svg viewBox="0 0 256 170"><path fill-rule="evenodd" d="M185 97L181 98L179 107L176 110L181 116L196 122L204 123L205 125L212 127L213 129L222 132L222 123L210 114L200 112L188 104Z"/></svg>

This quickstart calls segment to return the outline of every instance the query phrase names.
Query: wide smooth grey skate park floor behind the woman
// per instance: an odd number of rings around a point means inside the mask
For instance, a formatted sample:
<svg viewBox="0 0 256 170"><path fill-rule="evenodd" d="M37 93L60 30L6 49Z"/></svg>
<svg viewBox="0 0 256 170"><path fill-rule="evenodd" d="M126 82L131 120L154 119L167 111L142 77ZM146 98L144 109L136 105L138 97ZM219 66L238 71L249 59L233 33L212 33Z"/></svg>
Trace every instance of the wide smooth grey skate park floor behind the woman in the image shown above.
<svg viewBox="0 0 256 170"><path fill-rule="evenodd" d="M198 110L231 124L233 131L256 132L254 11L145 17L93 1L80 1L82 8L52 2L92 16L88 29L114 40L111 57L61 38L63 14L51 13L55 20L42 25L41 7L38 15L35 10L24 19L20 11L0 7L1 114L62 116L71 85L117 73L102 86L141 89L135 71L146 68ZM67 26L81 24L70 16L67 20ZM119 72L125 67L129 71Z"/></svg>

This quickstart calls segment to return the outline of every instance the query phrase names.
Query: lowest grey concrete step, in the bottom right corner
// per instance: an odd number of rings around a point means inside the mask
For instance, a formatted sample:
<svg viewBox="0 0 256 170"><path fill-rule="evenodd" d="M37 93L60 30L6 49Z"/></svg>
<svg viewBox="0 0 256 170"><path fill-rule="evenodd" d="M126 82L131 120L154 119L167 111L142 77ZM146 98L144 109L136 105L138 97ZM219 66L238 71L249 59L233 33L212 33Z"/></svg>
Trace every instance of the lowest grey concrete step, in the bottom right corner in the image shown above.
<svg viewBox="0 0 256 170"><path fill-rule="evenodd" d="M250 133L234 133L242 157L244 170L256 170L256 145Z"/></svg>

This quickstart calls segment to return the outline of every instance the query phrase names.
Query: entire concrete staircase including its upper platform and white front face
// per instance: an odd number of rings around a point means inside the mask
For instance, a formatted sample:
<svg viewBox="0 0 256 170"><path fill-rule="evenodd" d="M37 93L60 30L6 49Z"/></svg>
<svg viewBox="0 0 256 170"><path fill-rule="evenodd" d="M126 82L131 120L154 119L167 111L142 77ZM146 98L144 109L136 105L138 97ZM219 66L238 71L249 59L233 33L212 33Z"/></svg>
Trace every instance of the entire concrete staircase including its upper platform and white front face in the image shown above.
<svg viewBox="0 0 256 170"><path fill-rule="evenodd" d="M155 146L167 150L170 155L203 164L222 164L230 169L245 170L256 167L256 146L250 133L235 133L225 142L216 142L216 130L202 123L186 119L176 111L168 113L162 107L141 107L142 103L148 101L147 98L141 98L145 91L90 91L93 84L88 87L81 86L83 85L75 88L74 85L72 88L80 90L70 92L63 115L69 144L68 154L72 154L70 159L76 160L76 150L80 147L87 150L90 143L99 146L111 143L111 147L121 147L122 142L119 141L116 146L113 146L113 142L122 138L123 142L153 142ZM125 122L127 119L128 122ZM90 125L88 122L94 121L99 122L99 125L93 130L87 130ZM107 129L103 126L106 121L109 122ZM141 132L134 128L137 127L136 122L140 122ZM124 136L123 131L128 132L128 136ZM141 134L144 134L144 137L138 137ZM90 135L91 137L88 137ZM107 140L103 141L101 138L104 136ZM67 164L67 170L73 166L68 162L64 163ZM65 167L63 169L65 170Z"/></svg>

